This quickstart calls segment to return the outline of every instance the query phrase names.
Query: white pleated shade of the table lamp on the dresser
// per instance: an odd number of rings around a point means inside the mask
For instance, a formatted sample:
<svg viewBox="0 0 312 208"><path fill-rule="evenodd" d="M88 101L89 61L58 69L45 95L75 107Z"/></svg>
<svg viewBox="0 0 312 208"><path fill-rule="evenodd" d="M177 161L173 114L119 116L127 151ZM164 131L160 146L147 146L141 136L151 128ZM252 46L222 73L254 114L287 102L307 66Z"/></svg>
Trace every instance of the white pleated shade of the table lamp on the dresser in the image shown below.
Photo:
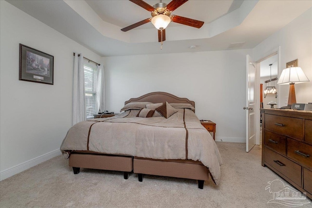
<svg viewBox="0 0 312 208"><path fill-rule="evenodd" d="M282 71L277 84L302 83L309 81L310 80L300 67L290 67Z"/></svg>

